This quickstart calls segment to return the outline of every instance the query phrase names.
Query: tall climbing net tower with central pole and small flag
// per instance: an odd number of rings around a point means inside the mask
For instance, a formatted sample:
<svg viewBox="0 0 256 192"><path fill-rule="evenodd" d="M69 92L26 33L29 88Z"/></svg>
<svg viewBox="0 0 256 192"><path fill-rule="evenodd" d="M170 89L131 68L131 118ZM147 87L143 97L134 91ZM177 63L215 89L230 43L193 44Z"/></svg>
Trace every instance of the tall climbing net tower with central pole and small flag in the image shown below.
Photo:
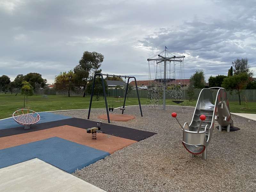
<svg viewBox="0 0 256 192"><path fill-rule="evenodd" d="M185 100L182 87L185 85L184 77L184 55L179 55L166 50L148 58L148 98L146 105L158 107L169 97L172 100ZM154 68L152 78L151 70Z"/></svg>

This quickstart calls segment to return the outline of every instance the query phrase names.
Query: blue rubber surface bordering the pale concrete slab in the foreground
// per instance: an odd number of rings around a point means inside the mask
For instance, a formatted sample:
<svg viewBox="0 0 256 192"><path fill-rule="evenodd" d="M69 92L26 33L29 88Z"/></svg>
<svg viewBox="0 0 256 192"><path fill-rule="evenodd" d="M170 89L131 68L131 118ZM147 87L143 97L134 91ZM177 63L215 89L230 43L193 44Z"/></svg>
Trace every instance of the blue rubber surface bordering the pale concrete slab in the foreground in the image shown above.
<svg viewBox="0 0 256 192"><path fill-rule="evenodd" d="M108 152L52 137L0 150L0 168L39 158L68 173L110 155Z"/></svg>

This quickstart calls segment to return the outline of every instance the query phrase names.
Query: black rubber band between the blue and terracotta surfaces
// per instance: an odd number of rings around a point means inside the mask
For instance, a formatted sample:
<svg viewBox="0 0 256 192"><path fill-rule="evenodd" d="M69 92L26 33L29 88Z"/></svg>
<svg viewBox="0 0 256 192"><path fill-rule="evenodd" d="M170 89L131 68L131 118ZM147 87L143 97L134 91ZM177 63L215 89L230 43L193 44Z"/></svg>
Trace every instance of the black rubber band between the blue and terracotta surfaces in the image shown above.
<svg viewBox="0 0 256 192"><path fill-rule="evenodd" d="M34 124L30 126L30 129L24 129L24 126L10 128L10 129L2 129L0 130L0 137L7 137L11 135L40 131L40 130L49 129L53 127L59 127L62 125L70 125L74 127L88 129L91 127L96 127L97 122L90 121L87 119L69 118L69 119L63 119L59 121ZM112 125L112 124L105 124L105 123L101 124L100 131L108 135L113 135L113 136L122 137L125 139L130 139L135 141L140 141L156 134L154 132L140 131L137 129L122 127L122 126Z"/></svg>

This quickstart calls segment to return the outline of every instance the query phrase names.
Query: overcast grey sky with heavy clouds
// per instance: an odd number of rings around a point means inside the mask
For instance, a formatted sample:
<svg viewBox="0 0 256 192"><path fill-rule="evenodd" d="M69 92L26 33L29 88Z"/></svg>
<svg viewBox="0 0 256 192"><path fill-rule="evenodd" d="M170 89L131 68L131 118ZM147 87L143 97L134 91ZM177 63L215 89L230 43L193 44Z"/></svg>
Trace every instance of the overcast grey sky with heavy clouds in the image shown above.
<svg viewBox="0 0 256 192"><path fill-rule="evenodd" d="M227 75L243 57L256 73L255 13L255 0L0 0L0 76L37 72L53 83L96 51L104 73L146 80L147 58L164 46L186 56L185 78Z"/></svg>

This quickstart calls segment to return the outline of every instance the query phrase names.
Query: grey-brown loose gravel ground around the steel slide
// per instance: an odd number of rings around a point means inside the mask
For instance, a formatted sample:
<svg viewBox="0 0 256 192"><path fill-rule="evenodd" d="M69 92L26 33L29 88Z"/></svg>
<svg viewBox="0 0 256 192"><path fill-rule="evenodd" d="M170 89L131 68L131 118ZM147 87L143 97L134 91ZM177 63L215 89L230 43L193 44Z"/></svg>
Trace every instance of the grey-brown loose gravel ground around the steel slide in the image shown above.
<svg viewBox="0 0 256 192"><path fill-rule="evenodd" d="M127 107L125 114L135 115L128 122L114 122L158 134L125 147L82 170L76 177L108 192L113 191L256 191L255 179L255 121L232 115L236 132L218 132L214 129L208 146L207 160L191 158L182 146L182 131L171 117L177 112L180 122L190 122L194 108L168 106L166 111L142 106ZM114 110L119 113L120 110ZM78 118L87 118L88 110L56 112ZM105 110L92 110L91 120ZM103 120L102 122L106 122ZM216 125L217 122L215 123Z"/></svg>

